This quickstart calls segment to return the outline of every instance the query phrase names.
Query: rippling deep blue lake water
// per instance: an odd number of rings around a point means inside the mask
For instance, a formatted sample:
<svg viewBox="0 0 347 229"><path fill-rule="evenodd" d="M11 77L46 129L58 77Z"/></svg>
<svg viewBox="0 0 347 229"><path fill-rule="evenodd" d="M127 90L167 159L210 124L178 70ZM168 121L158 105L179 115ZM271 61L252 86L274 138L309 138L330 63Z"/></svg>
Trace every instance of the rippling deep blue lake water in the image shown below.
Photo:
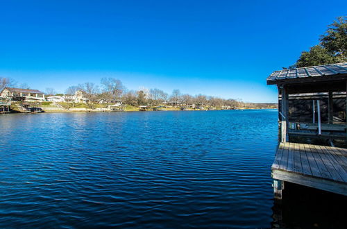
<svg viewBox="0 0 347 229"><path fill-rule="evenodd" d="M0 227L271 227L277 115L1 115Z"/></svg>

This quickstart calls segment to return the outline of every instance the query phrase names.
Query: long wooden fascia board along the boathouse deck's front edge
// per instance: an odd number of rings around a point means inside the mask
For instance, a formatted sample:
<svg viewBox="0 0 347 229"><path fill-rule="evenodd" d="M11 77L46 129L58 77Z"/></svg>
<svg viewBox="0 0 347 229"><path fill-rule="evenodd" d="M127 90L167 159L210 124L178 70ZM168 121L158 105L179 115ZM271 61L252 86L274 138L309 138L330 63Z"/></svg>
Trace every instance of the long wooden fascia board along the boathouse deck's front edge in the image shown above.
<svg viewBox="0 0 347 229"><path fill-rule="evenodd" d="M305 185L347 196L347 183L339 183L334 180L325 180L321 178L314 178L312 176L302 176L297 173L290 173L288 171L281 170L272 171L272 177L276 180L283 180L290 183Z"/></svg>

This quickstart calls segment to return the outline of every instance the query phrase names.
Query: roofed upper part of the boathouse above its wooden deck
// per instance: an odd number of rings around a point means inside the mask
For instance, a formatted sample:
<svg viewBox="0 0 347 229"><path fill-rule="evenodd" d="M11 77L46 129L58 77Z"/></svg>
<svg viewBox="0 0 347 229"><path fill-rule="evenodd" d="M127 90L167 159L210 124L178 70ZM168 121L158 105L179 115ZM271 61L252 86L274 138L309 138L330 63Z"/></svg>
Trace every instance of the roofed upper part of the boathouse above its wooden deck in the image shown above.
<svg viewBox="0 0 347 229"><path fill-rule="evenodd" d="M344 66L288 69L285 76L283 70L270 76L268 84L278 85L279 123L286 125L280 128L281 142L319 138L330 144L336 140L346 143L347 70Z"/></svg>

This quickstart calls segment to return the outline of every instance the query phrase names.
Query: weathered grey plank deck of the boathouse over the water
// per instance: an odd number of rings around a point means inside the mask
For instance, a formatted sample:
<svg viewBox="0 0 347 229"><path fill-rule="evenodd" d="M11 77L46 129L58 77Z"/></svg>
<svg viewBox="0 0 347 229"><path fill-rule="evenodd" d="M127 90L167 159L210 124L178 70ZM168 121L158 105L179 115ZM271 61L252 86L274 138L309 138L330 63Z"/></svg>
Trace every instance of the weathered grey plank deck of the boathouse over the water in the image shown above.
<svg viewBox="0 0 347 229"><path fill-rule="evenodd" d="M282 142L271 169L275 180L347 196L347 149Z"/></svg>

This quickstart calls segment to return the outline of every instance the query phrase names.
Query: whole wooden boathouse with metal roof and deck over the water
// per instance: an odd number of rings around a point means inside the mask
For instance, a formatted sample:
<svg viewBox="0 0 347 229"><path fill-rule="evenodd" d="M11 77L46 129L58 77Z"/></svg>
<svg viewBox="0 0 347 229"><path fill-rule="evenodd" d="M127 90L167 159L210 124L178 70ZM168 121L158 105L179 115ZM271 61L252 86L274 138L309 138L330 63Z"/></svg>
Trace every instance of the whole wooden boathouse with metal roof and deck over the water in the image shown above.
<svg viewBox="0 0 347 229"><path fill-rule="evenodd" d="M347 62L274 71L266 81L278 86L275 198L286 182L347 196Z"/></svg>

